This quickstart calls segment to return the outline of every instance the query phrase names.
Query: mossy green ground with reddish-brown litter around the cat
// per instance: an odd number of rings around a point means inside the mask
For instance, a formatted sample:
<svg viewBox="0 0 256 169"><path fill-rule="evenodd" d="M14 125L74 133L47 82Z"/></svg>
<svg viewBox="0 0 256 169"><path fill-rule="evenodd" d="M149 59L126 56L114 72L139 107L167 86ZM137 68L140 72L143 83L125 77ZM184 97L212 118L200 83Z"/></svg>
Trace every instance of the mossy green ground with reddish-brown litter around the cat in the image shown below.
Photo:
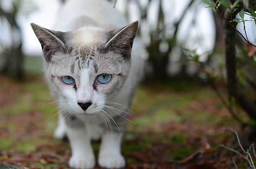
<svg viewBox="0 0 256 169"><path fill-rule="evenodd" d="M0 163L19 167L67 168L68 140L52 137L56 105L40 70L30 59L22 82L0 75ZM225 95L225 89L221 87ZM128 169L233 168L233 157L220 147L236 142L227 127L241 125L207 85L166 80L144 82L135 94L131 122L122 143ZM246 119L245 114L237 111ZM99 142L93 142L95 155ZM236 148L239 148L236 146ZM96 169L99 169L96 166Z"/></svg>

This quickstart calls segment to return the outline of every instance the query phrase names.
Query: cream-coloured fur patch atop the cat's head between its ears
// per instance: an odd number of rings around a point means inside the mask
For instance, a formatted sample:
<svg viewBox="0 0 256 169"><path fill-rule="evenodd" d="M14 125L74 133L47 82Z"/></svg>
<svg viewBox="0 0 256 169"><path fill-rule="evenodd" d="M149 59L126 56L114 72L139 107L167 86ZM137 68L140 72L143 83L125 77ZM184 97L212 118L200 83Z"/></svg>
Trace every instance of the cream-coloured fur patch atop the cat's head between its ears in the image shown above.
<svg viewBox="0 0 256 169"><path fill-rule="evenodd" d="M102 43L102 29L86 27L73 32L70 43L75 46L91 46Z"/></svg>

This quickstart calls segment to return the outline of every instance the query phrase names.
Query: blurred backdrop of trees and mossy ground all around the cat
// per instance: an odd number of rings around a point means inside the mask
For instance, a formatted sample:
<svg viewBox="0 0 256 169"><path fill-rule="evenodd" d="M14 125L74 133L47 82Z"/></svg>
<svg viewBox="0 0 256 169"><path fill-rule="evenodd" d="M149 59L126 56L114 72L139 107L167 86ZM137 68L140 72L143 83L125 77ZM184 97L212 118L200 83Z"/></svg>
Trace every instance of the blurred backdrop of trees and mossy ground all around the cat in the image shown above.
<svg viewBox="0 0 256 169"><path fill-rule="evenodd" d="M147 57L122 144L127 168L250 166L220 145L241 150L227 127L245 149L255 140L256 7L227 0L230 9L212 3L216 11L206 8L213 1L202 1L117 0L129 22L140 20L137 37ZM69 143L52 137L58 110L49 104L54 98L30 26L51 29L64 2L0 0L0 163L67 167ZM227 10L240 20L224 19ZM93 147L97 155L99 143Z"/></svg>

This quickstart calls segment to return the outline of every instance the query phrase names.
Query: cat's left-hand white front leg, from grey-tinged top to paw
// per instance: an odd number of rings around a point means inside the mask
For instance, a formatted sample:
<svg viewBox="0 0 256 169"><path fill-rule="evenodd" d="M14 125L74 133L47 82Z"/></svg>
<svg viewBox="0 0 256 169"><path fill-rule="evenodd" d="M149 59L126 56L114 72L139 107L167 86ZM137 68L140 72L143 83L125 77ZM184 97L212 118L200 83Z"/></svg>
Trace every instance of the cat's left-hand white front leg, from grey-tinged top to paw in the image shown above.
<svg viewBox="0 0 256 169"><path fill-rule="evenodd" d="M91 169L95 166L95 157L84 123L67 118L65 117L67 137L72 151L69 166L76 169Z"/></svg>

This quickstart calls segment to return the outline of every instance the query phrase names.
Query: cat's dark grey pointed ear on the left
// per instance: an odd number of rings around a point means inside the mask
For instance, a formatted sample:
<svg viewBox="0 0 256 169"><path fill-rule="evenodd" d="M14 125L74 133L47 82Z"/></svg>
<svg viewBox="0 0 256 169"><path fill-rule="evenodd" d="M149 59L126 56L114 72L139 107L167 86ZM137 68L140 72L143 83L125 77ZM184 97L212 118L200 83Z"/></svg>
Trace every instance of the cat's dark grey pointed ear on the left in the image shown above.
<svg viewBox="0 0 256 169"><path fill-rule="evenodd" d="M41 43L43 55L46 61L51 61L52 55L56 52L67 52L67 48L64 44L64 32L45 29L35 23L31 23L30 25Z"/></svg>

